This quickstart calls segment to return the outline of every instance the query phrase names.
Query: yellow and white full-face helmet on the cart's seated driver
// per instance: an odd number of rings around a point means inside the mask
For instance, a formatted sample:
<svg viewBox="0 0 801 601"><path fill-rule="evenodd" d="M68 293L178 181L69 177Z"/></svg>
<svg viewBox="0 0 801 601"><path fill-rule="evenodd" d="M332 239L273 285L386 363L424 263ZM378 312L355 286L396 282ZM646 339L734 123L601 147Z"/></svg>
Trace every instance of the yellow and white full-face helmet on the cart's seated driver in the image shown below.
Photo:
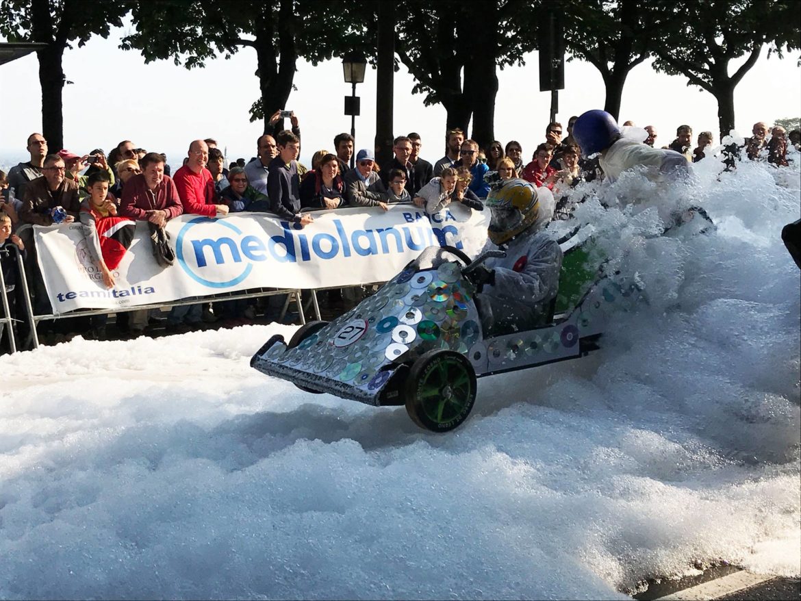
<svg viewBox="0 0 801 601"><path fill-rule="evenodd" d="M537 188L525 179L508 179L493 188L484 204L492 212L487 233L495 244L503 244L530 228L540 212Z"/></svg>

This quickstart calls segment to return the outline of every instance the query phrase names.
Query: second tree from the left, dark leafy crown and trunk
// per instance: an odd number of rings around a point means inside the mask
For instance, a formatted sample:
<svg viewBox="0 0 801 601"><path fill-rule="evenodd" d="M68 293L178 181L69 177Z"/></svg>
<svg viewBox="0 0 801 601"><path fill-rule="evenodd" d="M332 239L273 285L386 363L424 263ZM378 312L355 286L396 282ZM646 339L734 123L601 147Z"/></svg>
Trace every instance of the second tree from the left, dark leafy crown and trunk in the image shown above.
<svg viewBox="0 0 801 601"><path fill-rule="evenodd" d="M151 0L137 4L132 14L135 31L122 47L140 50L146 63L172 58L193 69L245 47L255 50L261 95L251 108L252 121L284 108L298 58L316 65L363 47L368 35L364 18L322 0Z"/></svg>

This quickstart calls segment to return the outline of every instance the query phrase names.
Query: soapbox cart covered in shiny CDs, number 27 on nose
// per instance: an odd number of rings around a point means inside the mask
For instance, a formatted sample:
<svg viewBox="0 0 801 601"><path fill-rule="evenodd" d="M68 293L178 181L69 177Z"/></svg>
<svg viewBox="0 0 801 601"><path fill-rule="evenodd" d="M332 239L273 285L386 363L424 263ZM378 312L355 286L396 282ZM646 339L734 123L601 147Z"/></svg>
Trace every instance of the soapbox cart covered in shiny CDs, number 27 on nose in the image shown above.
<svg viewBox="0 0 801 601"><path fill-rule="evenodd" d="M309 322L288 343L280 335L271 337L251 365L309 393L332 393L368 405L405 405L418 426L445 432L473 409L477 377L598 349L610 311L642 299L639 288L625 278L601 276L588 282L569 312L550 315L547 325L486 337L471 276L488 256L498 256L494 253L499 251L471 261L457 248L426 248L336 320Z"/></svg>

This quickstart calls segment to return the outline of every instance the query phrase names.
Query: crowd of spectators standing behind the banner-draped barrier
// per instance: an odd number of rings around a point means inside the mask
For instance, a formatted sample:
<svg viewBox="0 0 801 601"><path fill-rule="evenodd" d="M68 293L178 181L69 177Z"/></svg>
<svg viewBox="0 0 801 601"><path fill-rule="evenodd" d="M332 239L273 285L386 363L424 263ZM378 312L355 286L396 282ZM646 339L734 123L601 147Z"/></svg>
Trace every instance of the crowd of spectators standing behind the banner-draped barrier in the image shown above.
<svg viewBox="0 0 801 601"><path fill-rule="evenodd" d="M279 119L276 112L270 123ZM445 133L445 155L433 162L422 158L423 140L414 132L396 137L392 159L381 165L372 150L356 151L352 135L342 133L334 136L330 151L316 151L307 166L298 161L300 124L292 114L291 129L256 139L256 156L250 161L238 159L226 165L214 139L195 139L188 145L183 167L174 175L165 155L145 151L131 140L118 143L108 155L102 148L76 154L66 149L54 151L41 134L31 134L26 141L30 160L12 167L7 175L0 171L0 260L12 317L26 302L18 285L18 261L26 269L34 313L52 313L36 260L32 228L23 227L26 224L81 224L100 280L103 286L113 288L114 270L131 244L135 222L147 222L155 252L160 248L157 259L168 265L171 251L163 228L184 213L207 217L267 213L304 227L314 220L311 212L320 209L376 207L386 211L391 204L413 203L433 214L457 203L481 211L482 200L493 185L525 179L553 192L554 219L569 219L571 207L566 200L570 190L582 181L608 175L597 157L582 155L573 135L577 119L571 117L565 128L562 123L549 123L544 139L533 148L527 163L516 140L505 144L496 140L481 148L464 131L453 128ZM645 131L647 137L642 143L658 147L656 128L649 125ZM783 127L755 123L751 137L732 150L716 149L710 131L694 137L692 127L681 125L675 139L662 148L677 152L687 163L720 151L783 167L788 164L788 149L791 156L801 149L801 131L787 134ZM348 297L343 299L332 292L326 300L333 306L345 303ZM244 324L260 312L274 319L281 306L280 296L260 302L215 302L213 308L208 303L175 306L165 329L185 332L216 321ZM105 315L65 321L72 322L67 331L59 331L53 321L40 322L40 335L59 340L76 329L85 337L106 335ZM117 315L119 329L130 337L142 335L155 321L158 317L147 310ZM17 324L18 337L24 339L30 325L22 319ZM27 339L30 341L30 336ZM0 345L5 343L0 341Z"/></svg>

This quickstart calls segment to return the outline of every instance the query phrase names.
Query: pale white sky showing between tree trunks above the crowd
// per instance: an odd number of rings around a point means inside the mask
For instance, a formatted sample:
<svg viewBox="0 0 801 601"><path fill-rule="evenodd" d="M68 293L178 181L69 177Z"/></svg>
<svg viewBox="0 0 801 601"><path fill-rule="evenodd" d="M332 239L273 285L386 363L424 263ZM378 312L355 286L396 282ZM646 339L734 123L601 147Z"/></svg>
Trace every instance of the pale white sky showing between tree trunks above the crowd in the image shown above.
<svg viewBox="0 0 801 601"><path fill-rule="evenodd" d="M111 38L92 38L83 48L64 54L66 79L74 85L64 90L64 143L78 153L103 147L107 152L119 140L132 139L151 151L167 152L169 162L180 164L189 142L213 137L227 147L228 160L255 154L261 123L248 121L248 109L259 88L256 56L245 48L231 60L222 58L205 69L187 71L171 61L145 65L135 51L117 47L124 28L112 30ZM755 121L771 122L799 115L801 78L796 63L799 53L780 60L766 58L767 51L735 92L736 127L750 131ZM517 139L524 158L544 139L550 95L538 91L537 54L526 54L525 67L499 71L500 89L495 111L496 138L506 143ZM601 76L588 63L566 66L567 88L560 92L557 119L602 108ZM316 150L332 150L332 139L350 131L343 114L343 97L350 94L339 60L312 67L299 62L293 91L286 108L300 116L303 137L301 159ZM443 155L445 109L423 106L422 95L412 95L413 79L401 67L395 75L396 135L417 131L423 137L424 158L432 162ZM0 165L26 156L25 140L41 131L41 91L35 54L0 67ZM376 72L368 70L365 83L356 88L362 99L362 115L356 118L356 147L373 146L375 136ZM621 122L626 119L644 127L658 128L658 142L669 143L681 123L695 131L711 130L717 136L717 103L683 77L657 74L644 63L634 68L623 92ZM58 150L58 149L51 149Z"/></svg>

